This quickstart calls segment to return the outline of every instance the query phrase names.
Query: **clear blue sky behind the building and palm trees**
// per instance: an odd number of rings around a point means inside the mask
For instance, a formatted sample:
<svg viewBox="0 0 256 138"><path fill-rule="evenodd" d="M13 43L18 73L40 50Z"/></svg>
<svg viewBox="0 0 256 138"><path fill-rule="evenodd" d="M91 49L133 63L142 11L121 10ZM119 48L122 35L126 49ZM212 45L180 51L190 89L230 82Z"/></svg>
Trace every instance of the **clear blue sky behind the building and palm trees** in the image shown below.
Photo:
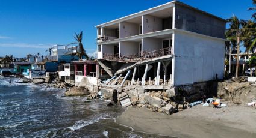
<svg viewBox="0 0 256 138"><path fill-rule="evenodd" d="M180 0L193 7L227 19L233 14L251 18L251 0ZM96 50L95 25L127 16L167 0L83 1L83 0L0 0L0 56L24 57L53 44L69 44L75 32L84 32L87 53Z"/></svg>

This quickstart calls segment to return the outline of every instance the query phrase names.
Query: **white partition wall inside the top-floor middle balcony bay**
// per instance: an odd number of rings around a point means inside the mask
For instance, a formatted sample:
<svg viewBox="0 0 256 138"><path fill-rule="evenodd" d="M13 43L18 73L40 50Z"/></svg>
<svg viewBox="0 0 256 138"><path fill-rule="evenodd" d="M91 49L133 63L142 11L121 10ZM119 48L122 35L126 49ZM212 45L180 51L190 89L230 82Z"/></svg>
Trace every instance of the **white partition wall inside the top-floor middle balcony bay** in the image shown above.
<svg viewBox="0 0 256 138"><path fill-rule="evenodd" d="M139 25L128 22L120 23L120 38L130 37L134 35L139 35Z"/></svg>

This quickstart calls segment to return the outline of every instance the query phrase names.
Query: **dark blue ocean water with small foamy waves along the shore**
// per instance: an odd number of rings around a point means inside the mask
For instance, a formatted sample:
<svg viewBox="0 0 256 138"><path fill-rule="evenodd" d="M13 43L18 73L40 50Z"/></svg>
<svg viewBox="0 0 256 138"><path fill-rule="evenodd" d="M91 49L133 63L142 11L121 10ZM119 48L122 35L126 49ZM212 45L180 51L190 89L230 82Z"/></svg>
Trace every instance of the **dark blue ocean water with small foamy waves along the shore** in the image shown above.
<svg viewBox="0 0 256 138"><path fill-rule="evenodd" d="M126 108L0 77L0 137L163 137L115 122Z"/></svg>

